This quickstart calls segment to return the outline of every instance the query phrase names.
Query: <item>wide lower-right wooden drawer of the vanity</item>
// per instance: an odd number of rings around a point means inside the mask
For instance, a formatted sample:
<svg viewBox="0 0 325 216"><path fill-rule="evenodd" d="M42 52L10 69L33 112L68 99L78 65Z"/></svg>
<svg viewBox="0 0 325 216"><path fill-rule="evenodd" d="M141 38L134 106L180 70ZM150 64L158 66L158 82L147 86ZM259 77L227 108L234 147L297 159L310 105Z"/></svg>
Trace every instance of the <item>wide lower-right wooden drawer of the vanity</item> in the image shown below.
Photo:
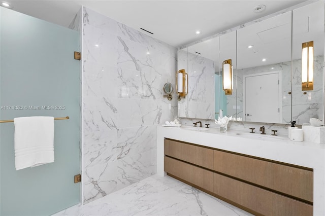
<svg viewBox="0 0 325 216"><path fill-rule="evenodd" d="M213 173L213 193L263 215L313 215L313 206L218 173Z"/></svg>

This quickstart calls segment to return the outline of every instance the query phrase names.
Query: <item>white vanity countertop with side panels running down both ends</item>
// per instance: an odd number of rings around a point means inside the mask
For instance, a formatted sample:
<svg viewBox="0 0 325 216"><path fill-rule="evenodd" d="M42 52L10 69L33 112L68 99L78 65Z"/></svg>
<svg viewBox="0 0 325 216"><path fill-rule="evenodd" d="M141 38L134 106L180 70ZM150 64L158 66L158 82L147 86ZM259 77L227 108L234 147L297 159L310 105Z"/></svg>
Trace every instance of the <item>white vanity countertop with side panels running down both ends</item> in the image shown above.
<svg viewBox="0 0 325 216"><path fill-rule="evenodd" d="M291 141L287 136L260 134L259 131L228 130L219 128L157 126L157 174L164 172L164 138L190 142L206 147L251 155L314 170L314 215L325 215L325 145Z"/></svg>

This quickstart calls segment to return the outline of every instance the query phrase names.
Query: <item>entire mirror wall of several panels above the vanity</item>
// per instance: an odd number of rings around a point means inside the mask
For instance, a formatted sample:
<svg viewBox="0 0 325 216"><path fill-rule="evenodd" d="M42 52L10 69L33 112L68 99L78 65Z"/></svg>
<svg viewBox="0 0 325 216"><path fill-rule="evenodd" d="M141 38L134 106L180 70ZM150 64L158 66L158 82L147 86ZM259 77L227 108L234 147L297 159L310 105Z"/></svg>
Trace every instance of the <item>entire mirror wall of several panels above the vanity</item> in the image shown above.
<svg viewBox="0 0 325 216"><path fill-rule="evenodd" d="M303 91L302 43L310 41L314 44L313 90ZM192 94L178 101L179 117L217 119L222 110L223 116L246 122L305 124L309 118L324 118L323 1L219 34L178 54L178 69L180 64L187 67ZM231 95L222 90L222 62L226 59L232 59L233 65ZM215 84L209 83L210 75L203 78L201 73L213 63ZM201 71L201 76L194 71ZM199 97L204 102L195 103ZM214 115L208 109L209 101L215 102Z"/></svg>

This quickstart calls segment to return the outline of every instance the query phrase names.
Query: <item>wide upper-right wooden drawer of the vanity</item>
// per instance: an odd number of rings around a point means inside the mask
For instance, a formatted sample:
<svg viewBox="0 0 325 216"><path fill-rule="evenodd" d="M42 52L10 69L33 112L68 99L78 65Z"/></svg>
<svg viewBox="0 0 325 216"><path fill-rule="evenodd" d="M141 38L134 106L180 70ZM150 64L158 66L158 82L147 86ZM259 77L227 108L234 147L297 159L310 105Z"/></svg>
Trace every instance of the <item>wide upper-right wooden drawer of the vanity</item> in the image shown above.
<svg viewBox="0 0 325 216"><path fill-rule="evenodd" d="M313 172L214 150L213 170L313 202Z"/></svg>

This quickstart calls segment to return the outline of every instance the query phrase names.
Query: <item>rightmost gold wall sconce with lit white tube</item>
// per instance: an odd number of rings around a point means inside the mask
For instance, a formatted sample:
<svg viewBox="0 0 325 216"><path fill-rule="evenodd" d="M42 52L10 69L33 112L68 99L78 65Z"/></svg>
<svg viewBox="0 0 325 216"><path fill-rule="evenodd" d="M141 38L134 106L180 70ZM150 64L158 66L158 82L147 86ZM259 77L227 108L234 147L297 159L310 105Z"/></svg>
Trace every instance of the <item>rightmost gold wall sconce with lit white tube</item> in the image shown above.
<svg viewBox="0 0 325 216"><path fill-rule="evenodd" d="M301 58L301 84L302 91L314 89L314 41L302 44Z"/></svg>

